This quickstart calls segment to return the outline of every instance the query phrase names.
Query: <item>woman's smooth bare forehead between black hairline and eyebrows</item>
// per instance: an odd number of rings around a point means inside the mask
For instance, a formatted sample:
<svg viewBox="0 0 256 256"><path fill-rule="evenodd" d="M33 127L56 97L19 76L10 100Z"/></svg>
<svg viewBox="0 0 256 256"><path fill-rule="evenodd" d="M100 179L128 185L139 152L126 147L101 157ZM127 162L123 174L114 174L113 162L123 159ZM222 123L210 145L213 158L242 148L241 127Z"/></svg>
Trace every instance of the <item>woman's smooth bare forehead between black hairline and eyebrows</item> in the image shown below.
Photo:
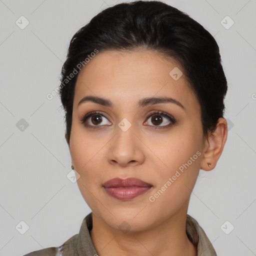
<svg viewBox="0 0 256 256"><path fill-rule="evenodd" d="M179 63L152 50L99 51L78 74L74 106L85 95L111 98L117 105L154 95L198 103Z"/></svg>

